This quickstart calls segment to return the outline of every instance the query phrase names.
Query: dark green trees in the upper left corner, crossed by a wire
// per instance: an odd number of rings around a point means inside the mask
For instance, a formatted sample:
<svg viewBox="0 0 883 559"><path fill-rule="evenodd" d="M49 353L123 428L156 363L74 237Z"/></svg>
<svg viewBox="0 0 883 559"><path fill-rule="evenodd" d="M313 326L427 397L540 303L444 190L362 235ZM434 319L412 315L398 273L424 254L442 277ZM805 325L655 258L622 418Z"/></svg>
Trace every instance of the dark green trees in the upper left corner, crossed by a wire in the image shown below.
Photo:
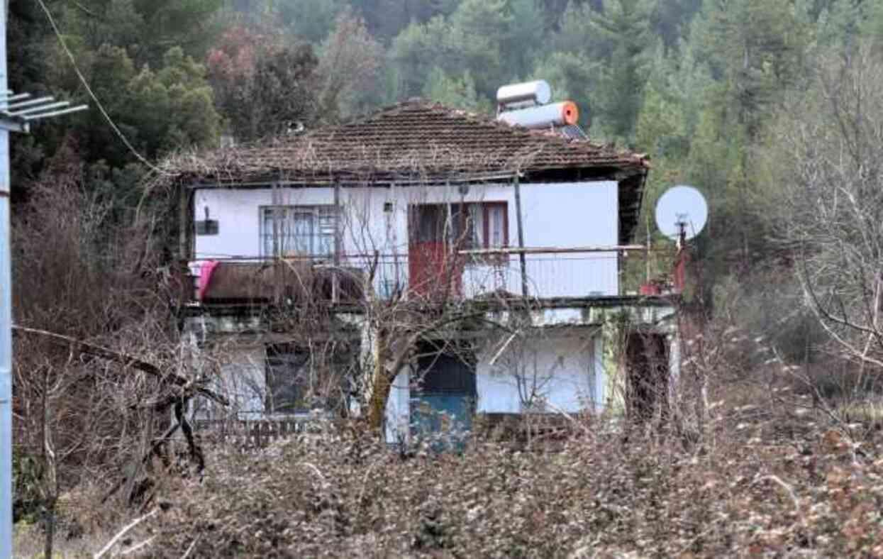
<svg viewBox="0 0 883 559"><path fill-rule="evenodd" d="M214 93L197 60L216 31L221 0L49 1L47 5L79 69L109 117L141 155L153 159L178 147L212 145L219 117ZM137 157L87 96L71 61L35 3L11 4L11 87L89 102L92 110L34 127L30 138L12 143L18 193L63 146L87 167L108 171L89 188L125 198L136 184ZM91 175L90 175L91 176ZM108 187L105 178L125 183Z"/></svg>

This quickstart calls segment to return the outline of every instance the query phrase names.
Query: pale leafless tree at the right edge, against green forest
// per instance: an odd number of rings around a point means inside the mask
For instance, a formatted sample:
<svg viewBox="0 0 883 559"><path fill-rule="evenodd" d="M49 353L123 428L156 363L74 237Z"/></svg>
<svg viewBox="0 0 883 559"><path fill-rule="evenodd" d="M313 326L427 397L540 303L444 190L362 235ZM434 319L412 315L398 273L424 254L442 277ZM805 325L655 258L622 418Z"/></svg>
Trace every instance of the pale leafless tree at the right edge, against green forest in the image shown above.
<svg viewBox="0 0 883 559"><path fill-rule="evenodd" d="M760 158L762 200L808 306L846 359L883 367L883 61L867 45L821 57Z"/></svg>

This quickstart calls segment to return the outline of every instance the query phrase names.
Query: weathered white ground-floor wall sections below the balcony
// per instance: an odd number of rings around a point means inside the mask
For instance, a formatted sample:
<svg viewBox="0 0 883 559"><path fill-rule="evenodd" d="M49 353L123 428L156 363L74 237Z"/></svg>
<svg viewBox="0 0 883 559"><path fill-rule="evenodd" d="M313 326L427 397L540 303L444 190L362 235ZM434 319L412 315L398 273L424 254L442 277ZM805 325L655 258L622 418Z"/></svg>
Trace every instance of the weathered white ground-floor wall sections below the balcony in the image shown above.
<svg viewBox="0 0 883 559"><path fill-rule="evenodd" d="M363 373L374 371L376 359L374 336L361 315L341 313L338 317L362 332L361 359ZM515 319L509 312L488 313L487 318L500 323ZM578 412L589 407L596 412L625 411L625 360L623 344L628 329L643 325L667 336L669 365L673 384L680 372L680 338L677 336L672 307L585 307L543 309L532 312L536 335L525 348L528 366L536 371L538 391L547 401L549 412ZM234 333L237 329L256 329L258 319L194 318L187 329L205 342L213 335ZM242 330L240 330L242 331ZM260 334L256 339L262 339ZM488 334L488 336L491 336ZM477 357L477 412L523 412L516 378L511 373L513 348L503 351L494 365L490 364L504 342L497 336L488 338ZM265 350L260 343L232 345L228 359L221 366L219 385L233 401L232 409L240 419L258 419L264 413ZM509 359L509 363L507 363ZM509 368L508 368L509 367ZM386 436L390 442L409 436L411 415L410 374L398 374L387 402ZM532 381L533 374L525 374ZM370 375L365 385L370 386ZM366 388L363 386L363 388ZM370 397L365 394L363 401ZM351 410L355 414L361 410Z"/></svg>

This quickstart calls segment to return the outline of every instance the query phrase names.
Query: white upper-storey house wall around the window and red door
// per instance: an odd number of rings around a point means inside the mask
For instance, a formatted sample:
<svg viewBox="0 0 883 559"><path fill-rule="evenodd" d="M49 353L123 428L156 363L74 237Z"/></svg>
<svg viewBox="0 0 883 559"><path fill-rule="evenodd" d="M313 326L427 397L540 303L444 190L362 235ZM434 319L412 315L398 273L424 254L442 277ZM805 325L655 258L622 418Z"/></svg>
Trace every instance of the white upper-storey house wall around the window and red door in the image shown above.
<svg viewBox="0 0 883 559"><path fill-rule="evenodd" d="M618 242L618 191L612 181L521 185L525 246L614 246ZM275 200L283 205L330 205L334 189L278 188ZM346 262L366 267L379 253L375 287L388 291L407 282L408 207L413 204L455 203L460 200L505 201L509 216L509 246L517 246L515 190L509 184L471 185L467 193L457 186L392 186L343 188L343 252ZM212 188L196 191L194 219L217 220L217 235L198 235L195 261L256 258L261 255L260 207L274 203L266 189ZM391 204L391 211L385 205ZM357 256L352 256L357 255ZM361 255L361 256L358 256ZM618 294L616 253L529 254L527 276L533 296L585 297ZM464 295L504 289L521 292L518 258L509 266L469 266L464 271Z"/></svg>

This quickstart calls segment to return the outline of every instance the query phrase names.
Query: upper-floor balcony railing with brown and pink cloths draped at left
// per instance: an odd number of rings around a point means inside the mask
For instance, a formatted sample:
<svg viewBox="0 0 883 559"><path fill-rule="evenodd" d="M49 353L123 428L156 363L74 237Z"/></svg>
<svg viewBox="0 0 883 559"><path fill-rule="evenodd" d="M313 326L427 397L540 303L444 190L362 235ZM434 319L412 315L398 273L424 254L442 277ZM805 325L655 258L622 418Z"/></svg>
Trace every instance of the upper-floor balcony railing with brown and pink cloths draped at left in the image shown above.
<svg viewBox="0 0 883 559"><path fill-rule="evenodd" d="M440 253L343 254L337 259L226 258L190 263L194 299L358 303L381 299L494 296L592 298L621 294L621 257L642 247L500 249ZM524 271L521 260L525 261ZM526 281L526 283L525 283Z"/></svg>

